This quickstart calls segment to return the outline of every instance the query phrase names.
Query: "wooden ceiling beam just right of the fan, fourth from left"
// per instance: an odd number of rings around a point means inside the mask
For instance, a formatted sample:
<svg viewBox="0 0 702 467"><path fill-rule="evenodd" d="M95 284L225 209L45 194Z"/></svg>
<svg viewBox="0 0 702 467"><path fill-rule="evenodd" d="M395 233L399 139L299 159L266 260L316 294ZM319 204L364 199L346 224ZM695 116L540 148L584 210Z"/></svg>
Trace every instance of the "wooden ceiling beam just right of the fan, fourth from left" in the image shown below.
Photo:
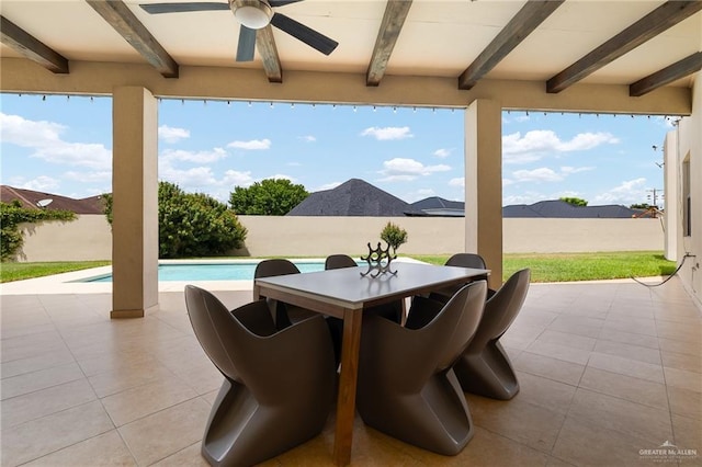
<svg viewBox="0 0 702 467"><path fill-rule="evenodd" d="M381 83L411 5L412 0L387 1L383 22L375 38L371 62L365 73L365 86L378 86Z"/></svg>

